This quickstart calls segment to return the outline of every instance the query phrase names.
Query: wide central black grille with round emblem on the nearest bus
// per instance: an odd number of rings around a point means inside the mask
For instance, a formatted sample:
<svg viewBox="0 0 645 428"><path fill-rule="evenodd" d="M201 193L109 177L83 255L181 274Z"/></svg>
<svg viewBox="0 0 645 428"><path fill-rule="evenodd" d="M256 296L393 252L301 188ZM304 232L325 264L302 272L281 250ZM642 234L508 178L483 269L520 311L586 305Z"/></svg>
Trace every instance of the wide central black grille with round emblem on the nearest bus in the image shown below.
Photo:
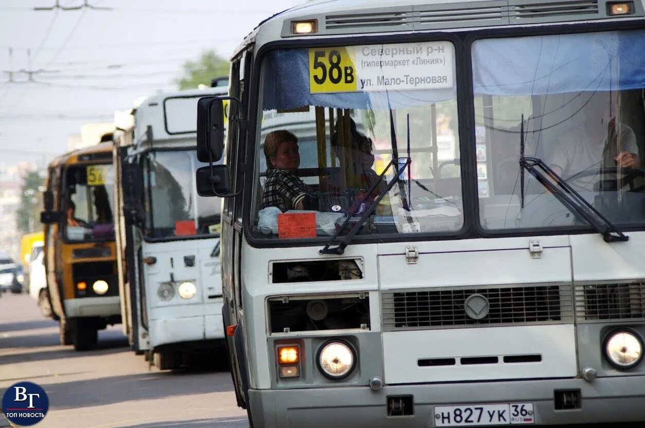
<svg viewBox="0 0 645 428"><path fill-rule="evenodd" d="M475 320L466 313L466 299L473 294L480 294L488 300L488 314L481 320ZM573 321L570 285L384 292L382 308L385 331Z"/></svg>

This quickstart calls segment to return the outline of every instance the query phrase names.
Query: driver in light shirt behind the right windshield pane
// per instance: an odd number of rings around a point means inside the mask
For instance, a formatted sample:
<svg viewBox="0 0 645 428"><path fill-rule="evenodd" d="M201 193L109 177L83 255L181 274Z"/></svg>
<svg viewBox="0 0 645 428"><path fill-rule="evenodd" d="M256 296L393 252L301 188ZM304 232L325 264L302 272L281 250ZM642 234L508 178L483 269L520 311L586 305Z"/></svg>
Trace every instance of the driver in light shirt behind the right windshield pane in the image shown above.
<svg viewBox="0 0 645 428"><path fill-rule="evenodd" d="M597 92L584 106L584 123L564 134L550 167L562 178L597 168L639 168L634 131L611 116L611 94ZM615 105L615 101L614 101Z"/></svg>

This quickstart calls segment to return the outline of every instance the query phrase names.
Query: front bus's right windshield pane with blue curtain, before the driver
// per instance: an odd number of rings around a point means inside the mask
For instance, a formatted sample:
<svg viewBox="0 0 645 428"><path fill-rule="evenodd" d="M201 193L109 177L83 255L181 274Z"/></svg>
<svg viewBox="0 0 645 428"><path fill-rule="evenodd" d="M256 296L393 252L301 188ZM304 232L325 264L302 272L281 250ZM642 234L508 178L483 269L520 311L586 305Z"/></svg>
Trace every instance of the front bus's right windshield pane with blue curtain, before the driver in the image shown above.
<svg viewBox="0 0 645 428"><path fill-rule="evenodd" d="M644 37L638 30L473 43L484 229L586 226L522 170L522 156L542 159L611 222L645 222Z"/></svg>

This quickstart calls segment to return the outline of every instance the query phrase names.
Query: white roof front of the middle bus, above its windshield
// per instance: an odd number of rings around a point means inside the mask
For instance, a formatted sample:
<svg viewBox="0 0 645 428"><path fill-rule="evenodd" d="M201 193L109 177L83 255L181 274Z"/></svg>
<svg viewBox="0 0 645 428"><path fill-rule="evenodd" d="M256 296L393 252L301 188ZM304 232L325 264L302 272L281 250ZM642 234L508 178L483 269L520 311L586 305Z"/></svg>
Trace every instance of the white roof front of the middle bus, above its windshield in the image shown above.
<svg viewBox="0 0 645 428"><path fill-rule="evenodd" d="M147 97L135 109L134 145L143 147L152 131L154 145L176 144L195 139L197 99L210 95L226 95L228 87L179 90Z"/></svg>

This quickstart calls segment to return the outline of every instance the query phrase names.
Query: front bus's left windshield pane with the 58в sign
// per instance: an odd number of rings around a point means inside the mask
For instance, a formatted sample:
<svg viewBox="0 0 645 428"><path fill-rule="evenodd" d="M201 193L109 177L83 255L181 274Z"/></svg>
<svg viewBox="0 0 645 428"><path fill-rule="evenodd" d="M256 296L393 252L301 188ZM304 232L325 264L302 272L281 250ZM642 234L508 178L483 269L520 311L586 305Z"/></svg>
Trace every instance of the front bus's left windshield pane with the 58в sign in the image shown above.
<svg viewBox="0 0 645 428"><path fill-rule="evenodd" d="M388 165L408 159L358 233L461 230L455 76L447 41L270 52L250 211L255 236L333 234L385 192L396 174Z"/></svg>

